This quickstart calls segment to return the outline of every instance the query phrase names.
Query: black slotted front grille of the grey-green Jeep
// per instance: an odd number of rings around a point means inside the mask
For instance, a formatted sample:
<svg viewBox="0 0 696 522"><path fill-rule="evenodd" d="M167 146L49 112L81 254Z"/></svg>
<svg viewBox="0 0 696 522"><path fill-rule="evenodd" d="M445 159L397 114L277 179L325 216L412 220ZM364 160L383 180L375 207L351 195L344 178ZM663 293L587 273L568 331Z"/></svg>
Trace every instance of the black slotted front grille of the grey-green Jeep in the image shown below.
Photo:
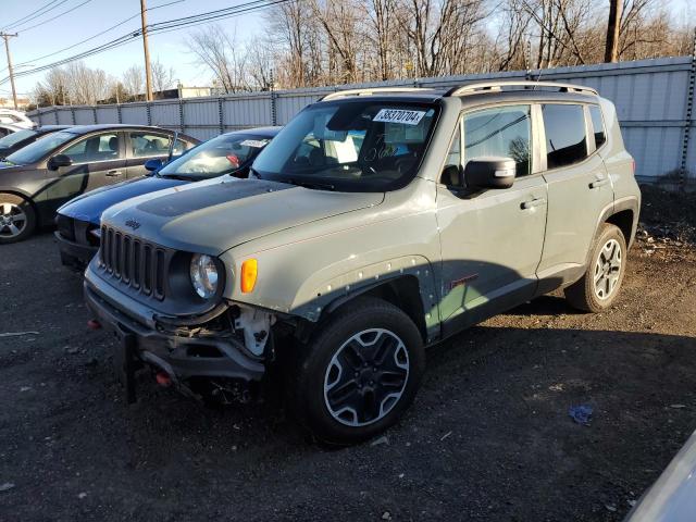
<svg viewBox="0 0 696 522"><path fill-rule="evenodd" d="M165 297L171 254L158 245L107 225L101 227L101 268L111 277L160 301Z"/></svg>

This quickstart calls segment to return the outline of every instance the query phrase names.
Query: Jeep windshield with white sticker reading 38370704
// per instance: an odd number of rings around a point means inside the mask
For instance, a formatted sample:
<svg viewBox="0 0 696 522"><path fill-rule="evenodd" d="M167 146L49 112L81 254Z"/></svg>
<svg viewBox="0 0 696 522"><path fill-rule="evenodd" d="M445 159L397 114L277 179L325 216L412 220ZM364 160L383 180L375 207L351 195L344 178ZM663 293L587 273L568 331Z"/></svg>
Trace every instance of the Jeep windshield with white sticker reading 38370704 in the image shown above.
<svg viewBox="0 0 696 522"><path fill-rule="evenodd" d="M394 190L415 175L436 112L432 104L319 103L285 126L253 171L310 188Z"/></svg>

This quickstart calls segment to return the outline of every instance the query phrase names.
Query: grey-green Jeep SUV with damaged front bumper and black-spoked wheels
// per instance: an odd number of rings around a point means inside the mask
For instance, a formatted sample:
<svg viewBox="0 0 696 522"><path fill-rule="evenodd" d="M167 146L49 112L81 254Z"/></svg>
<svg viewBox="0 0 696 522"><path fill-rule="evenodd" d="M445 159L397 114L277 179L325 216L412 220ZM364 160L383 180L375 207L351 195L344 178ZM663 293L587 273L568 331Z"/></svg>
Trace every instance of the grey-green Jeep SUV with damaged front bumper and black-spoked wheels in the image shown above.
<svg viewBox="0 0 696 522"><path fill-rule="evenodd" d="M301 111L229 176L104 212L85 294L128 397L283 383L335 444L394 424L425 347L563 288L619 294L641 202L613 105L555 83L363 89Z"/></svg>

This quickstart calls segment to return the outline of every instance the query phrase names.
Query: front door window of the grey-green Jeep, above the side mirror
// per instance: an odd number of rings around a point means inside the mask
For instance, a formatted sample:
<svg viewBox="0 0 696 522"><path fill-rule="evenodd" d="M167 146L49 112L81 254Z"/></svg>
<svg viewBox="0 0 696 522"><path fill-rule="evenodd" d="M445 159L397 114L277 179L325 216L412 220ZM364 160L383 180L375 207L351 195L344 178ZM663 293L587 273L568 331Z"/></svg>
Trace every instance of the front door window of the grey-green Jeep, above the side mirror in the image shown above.
<svg viewBox="0 0 696 522"><path fill-rule="evenodd" d="M531 173L530 105L486 109L464 115L464 162L482 157L511 158L517 176Z"/></svg>

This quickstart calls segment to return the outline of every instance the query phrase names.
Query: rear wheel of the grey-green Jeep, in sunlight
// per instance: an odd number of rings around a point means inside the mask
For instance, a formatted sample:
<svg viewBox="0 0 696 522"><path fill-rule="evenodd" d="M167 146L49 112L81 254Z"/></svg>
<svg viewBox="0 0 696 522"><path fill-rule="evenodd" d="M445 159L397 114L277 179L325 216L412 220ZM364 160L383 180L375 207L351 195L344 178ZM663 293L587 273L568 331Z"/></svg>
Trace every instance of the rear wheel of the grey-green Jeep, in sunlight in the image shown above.
<svg viewBox="0 0 696 522"><path fill-rule="evenodd" d="M586 312L611 308L626 269L626 241L621 229L605 223L599 231L582 278L564 289L568 302Z"/></svg>

